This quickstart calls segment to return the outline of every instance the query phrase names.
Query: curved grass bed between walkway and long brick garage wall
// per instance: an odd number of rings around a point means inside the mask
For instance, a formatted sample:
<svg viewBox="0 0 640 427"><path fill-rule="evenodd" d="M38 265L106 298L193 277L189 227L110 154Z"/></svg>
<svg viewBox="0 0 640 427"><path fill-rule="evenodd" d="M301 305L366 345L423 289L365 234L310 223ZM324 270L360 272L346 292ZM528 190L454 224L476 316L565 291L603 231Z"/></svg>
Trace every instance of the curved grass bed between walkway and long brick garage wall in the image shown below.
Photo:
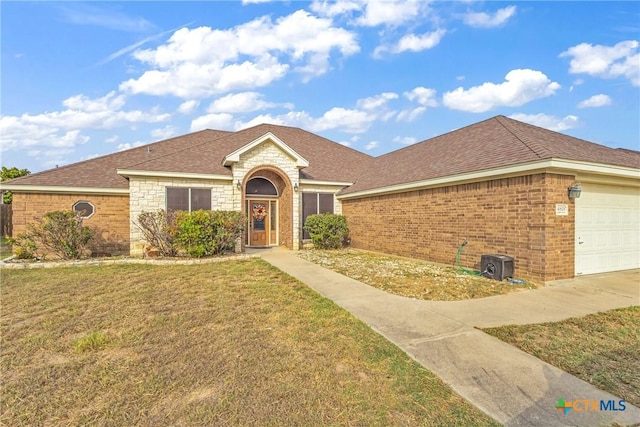
<svg viewBox="0 0 640 427"><path fill-rule="evenodd" d="M499 282L459 269L357 249L297 252L298 256L391 294L437 301L459 301L533 289L532 282Z"/></svg>

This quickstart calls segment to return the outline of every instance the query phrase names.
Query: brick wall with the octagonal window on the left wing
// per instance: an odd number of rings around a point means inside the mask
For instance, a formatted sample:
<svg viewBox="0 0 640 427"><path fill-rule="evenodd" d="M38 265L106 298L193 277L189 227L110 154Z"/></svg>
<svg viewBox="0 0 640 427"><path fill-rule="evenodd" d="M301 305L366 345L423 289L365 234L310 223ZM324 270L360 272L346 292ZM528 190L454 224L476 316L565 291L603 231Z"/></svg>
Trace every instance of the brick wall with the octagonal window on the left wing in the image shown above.
<svg viewBox="0 0 640 427"><path fill-rule="evenodd" d="M129 196L97 194L43 194L13 192L13 235L24 233L27 224L57 210L71 210L78 201L90 202L95 213L83 221L96 232L94 255L129 253Z"/></svg>

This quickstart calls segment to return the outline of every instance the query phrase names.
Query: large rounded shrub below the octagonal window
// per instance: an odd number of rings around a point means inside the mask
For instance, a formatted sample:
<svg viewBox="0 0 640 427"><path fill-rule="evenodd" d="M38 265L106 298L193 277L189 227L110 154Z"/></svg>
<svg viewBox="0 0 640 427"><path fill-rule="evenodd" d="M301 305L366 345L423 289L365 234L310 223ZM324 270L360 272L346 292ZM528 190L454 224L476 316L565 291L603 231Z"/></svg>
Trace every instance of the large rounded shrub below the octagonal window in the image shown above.
<svg viewBox="0 0 640 427"><path fill-rule="evenodd" d="M82 258L94 234L73 211L47 212L40 223L31 224L27 229L28 238L63 259Z"/></svg>

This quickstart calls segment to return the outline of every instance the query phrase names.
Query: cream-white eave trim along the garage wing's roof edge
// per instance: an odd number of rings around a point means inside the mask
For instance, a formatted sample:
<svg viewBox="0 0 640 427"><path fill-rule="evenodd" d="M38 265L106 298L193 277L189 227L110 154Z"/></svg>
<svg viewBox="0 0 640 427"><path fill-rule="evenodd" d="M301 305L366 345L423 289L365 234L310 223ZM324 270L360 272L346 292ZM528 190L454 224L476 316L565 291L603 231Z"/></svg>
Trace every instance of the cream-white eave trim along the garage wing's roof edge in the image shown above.
<svg viewBox="0 0 640 427"><path fill-rule="evenodd" d="M440 178L428 179L423 181L415 181L386 187L372 188L369 190L356 191L354 193L337 195L338 200L354 199L358 197L401 193L406 191L419 190L432 187L444 187L453 184L462 184L473 181L485 181L487 179L497 179L505 176L515 176L539 172L564 172L568 174L578 175L588 172L596 175L606 175L617 178L640 179L640 169L604 165L600 163L587 163L574 160L563 159L547 159L538 160L530 163L522 163L512 166L503 166L499 168L485 169L476 172L468 172L457 175L449 175Z"/></svg>

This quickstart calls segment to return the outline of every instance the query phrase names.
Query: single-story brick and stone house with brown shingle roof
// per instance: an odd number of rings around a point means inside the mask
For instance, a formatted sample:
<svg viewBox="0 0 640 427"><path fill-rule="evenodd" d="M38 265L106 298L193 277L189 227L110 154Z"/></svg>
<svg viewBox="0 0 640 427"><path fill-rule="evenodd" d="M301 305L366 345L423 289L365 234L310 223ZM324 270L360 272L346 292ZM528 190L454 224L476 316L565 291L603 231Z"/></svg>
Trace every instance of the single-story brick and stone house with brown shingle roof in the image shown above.
<svg viewBox="0 0 640 427"><path fill-rule="evenodd" d="M333 212L356 248L453 264L466 239L463 265L505 254L543 281L640 268L640 152L504 116L379 157L286 126L204 130L1 188L14 234L74 209L96 253L143 256L143 211L225 209L248 216L243 247L297 250L305 218Z"/></svg>

